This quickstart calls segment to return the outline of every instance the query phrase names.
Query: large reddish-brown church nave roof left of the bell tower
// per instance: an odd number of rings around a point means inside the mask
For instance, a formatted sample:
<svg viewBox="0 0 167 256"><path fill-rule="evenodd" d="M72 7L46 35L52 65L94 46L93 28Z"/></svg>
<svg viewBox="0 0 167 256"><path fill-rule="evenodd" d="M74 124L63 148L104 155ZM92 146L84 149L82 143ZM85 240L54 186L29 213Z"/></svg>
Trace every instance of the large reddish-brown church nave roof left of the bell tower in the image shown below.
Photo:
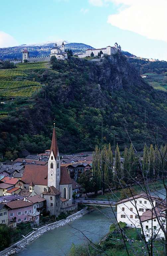
<svg viewBox="0 0 167 256"><path fill-rule="evenodd" d="M47 165L26 165L22 181L26 184L33 181L35 185L47 186Z"/></svg>

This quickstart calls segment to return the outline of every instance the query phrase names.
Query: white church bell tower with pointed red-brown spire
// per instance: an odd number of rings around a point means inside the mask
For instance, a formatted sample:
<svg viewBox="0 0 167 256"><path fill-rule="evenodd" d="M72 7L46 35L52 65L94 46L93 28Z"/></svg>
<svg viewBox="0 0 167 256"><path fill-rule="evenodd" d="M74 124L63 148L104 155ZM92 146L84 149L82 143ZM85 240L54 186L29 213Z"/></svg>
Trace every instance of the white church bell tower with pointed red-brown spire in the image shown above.
<svg viewBox="0 0 167 256"><path fill-rule="evenodd" d="M53 136L50 148L50 155L47 166L47 186L54 186L59 190L60 183L60 156L58 152L55 123L53 128Z"/></svg>

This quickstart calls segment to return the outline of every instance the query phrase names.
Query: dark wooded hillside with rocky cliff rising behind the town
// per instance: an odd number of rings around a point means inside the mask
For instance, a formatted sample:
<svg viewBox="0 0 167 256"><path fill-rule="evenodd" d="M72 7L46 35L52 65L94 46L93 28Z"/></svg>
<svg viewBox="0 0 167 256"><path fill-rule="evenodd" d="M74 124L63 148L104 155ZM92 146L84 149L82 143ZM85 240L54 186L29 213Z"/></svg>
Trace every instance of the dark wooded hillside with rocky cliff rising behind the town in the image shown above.
<svg viewBox="0 0 167 256"><path fill-rule="evenodd" d="M121 150L129 145L125 128L138 150L145 142L154 144L154 135L166 143L166 93L147 84L122 54L97 63L71 57L52 66L20 65L25 75L12 81L40 83L41 89L14 100L1 96L6 104L0 111L7 113L0 119L1 154L49 148L54 118L62 153L93 150L101 143L102 120L103 141L112 148L117 142Z"/></svg>

